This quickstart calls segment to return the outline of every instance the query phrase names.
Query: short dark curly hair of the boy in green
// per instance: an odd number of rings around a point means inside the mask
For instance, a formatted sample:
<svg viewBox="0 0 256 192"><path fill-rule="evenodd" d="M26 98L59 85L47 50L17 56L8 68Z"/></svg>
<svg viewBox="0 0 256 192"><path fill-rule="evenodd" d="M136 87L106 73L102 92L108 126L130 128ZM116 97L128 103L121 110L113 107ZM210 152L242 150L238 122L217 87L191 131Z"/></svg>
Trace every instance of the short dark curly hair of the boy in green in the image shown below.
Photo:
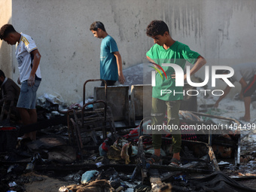
<svg viewBox="0 0 256 192"><path fill-rule="evenodd" d="M152 38L157 35L163 35L165 32L169 33L169 28L163 20L152 20L147 27L146 34Z"/></svg>

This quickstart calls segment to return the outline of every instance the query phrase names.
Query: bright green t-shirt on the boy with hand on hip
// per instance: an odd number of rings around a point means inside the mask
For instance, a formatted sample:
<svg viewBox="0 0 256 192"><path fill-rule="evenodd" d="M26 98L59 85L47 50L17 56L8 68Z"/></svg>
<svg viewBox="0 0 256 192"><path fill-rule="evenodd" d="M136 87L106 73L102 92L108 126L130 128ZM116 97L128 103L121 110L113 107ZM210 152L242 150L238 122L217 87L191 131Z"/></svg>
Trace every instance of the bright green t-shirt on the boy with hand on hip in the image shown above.
<svg viewBox="0 0 256 192"><path fill-rule="evenodd" d="M194 64L200 54L190 50L186 44L181 44L180 42L175 41L175 43L167 50L159 44L154 44L151 49L148 50L147 56L160 66L162 66L162 63L174 63L181 66L184 70L186 61ZM164 101L183 99L183 87L175 87L175 78L171 78L171 75L175 72L174 69L169 66L162 66L162 68L163 71L166 72L167 79L161 70L160 72L163 79L158 72L156 73L156 86L152 89L152 97ZM168 91L161 93L161 90Z"/></svg>

